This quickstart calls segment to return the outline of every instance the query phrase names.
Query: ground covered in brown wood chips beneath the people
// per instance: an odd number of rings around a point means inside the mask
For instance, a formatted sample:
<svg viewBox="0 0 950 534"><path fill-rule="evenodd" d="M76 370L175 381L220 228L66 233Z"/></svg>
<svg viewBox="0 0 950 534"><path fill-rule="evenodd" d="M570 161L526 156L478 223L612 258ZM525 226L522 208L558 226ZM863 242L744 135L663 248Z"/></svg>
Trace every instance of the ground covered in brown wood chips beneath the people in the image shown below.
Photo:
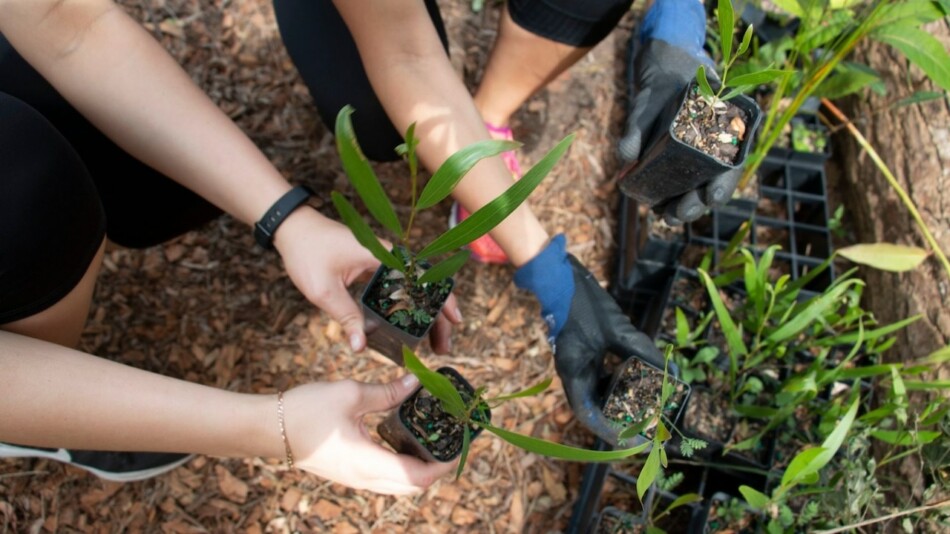
<svg viewBox="0 0 950 534"><path fill-rule="evenodd" d="M280 41L264 0L123 0L294 183L346 190L330 134ZM472 86L494 39L500 5L474 13L469 2L440 2L451 57ZM570 251L600 280L615 252L617 169L613 147L623 120L620 28L518 113L523 164L577 133L567 157L531 205L547 229L568 235ZM389 191L405 192L400 165L379 167ZM406 196L405 193L394 193ZM423 218L444 228L448 204ZM323 211L335 217L326 197ZM516 289L509 266L471 263L456 294L465 324L453 351L422 356L452 365L476 385L509 392L554 376L538 308ZM222 217L147 250L110 248L82 348L170 376L241 392L273 393L315 380L391 379L400 372L377 354L353 354L338 324L296 291L279 258L254 246L249 228ZM586 445L560 383L500 408L495 421L555 441ZM315 421L314 424L319 424ZM549 532L562 530L581 468L526 454L484 436L458 481L424 495L351 491L279 460L197 457L153 480L114 484L46 461L0 461L0 532Z"/></svg>

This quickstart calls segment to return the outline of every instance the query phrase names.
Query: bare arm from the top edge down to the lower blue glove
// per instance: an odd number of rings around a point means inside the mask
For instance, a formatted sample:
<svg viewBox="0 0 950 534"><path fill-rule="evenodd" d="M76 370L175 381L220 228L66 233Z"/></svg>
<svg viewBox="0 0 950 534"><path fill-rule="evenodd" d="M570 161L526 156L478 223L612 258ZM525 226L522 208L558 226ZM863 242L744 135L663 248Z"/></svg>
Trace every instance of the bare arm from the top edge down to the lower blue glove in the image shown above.
<svg viewBox="0 0 950 534"><path fill-rule="evenodd" d="M399 131L415 122L419 156L435 170L451 154L489 139L472 97L452 68L425 5L416 0L335 2L356 41L380 102ZM356 110L359 113L359 110ZM511 186L500 157L479 163L452 195L474 211ZM512 263L537 255L548 234L527 205L491 232Z"/></svg>

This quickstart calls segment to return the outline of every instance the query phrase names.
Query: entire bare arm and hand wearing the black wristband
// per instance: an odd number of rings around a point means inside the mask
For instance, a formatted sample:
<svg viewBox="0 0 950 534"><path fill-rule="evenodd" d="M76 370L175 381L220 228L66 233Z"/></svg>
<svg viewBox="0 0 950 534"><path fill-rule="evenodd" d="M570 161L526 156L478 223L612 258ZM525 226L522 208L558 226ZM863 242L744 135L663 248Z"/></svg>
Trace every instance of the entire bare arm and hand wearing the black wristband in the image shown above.
<svg viewBox="0 0 950 534"><path fill-rule="evenodd" d="M110 139L238 220L253 224L290 190L250 139L110 0L0 0L0 32ZM274 244L300 291L361 350L363 317L346 286L378 262L342 225L312 209L295 210ZM326 250L339 253L328 257ZM447 350L446 318L458 322L454 301L446 309L441 337L433 339L440 351Z"/></svg>

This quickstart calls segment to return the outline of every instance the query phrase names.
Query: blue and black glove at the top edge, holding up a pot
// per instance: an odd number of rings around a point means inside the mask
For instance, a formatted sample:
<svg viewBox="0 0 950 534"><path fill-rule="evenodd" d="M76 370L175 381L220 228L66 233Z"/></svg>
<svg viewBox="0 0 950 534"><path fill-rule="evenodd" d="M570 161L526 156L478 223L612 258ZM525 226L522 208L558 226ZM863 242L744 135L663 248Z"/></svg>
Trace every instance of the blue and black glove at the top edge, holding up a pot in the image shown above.
<svg viewBox="0 0 950 534"><path fill-rule="evenodd" d="M703 50L705 40L706 11L698 0L656 0L647 11L631 73L633 99L627 132L618 146L625 169L633 168L653 136L660 133L654 131L657 118L693 79L700 64L706 65L710 83L716 84L715 65ZM707 207L727 202L741 175L742 169L731 169L653 208L670 225L694 221Z"/></svg>

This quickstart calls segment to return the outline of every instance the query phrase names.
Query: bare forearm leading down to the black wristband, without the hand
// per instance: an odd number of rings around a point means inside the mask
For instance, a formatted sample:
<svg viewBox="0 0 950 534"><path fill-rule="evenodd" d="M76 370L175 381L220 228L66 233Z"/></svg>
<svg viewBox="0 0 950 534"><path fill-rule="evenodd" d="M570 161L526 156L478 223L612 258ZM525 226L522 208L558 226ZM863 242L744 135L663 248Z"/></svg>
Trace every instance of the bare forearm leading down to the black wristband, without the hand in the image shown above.
<svg viewBox="0 0 950 534"><path fill-rule="evenodd" d="M0 9L0 31L17 51L133 156L246 223L290 188L112 2L6 0Z"/></svg>

